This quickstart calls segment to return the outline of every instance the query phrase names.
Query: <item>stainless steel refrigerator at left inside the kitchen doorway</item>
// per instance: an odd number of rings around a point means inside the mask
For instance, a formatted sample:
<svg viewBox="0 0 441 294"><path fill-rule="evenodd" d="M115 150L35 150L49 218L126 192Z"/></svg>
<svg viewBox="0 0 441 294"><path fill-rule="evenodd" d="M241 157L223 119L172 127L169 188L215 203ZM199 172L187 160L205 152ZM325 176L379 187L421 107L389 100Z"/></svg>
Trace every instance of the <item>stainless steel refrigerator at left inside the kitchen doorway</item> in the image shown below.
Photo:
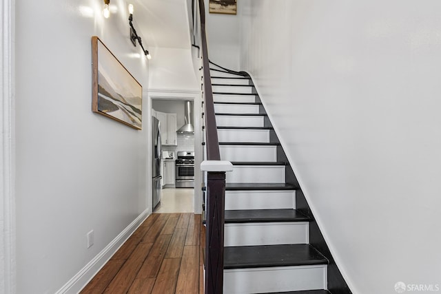
<svg viewBox="0 0 441 294"><path fill-rule="evenodd" d="M161 156L162 156L162 146L161 146L161 131L159 128L158 118L152 117L152 170L153 170L153 206L155 207L161 202Z"/></svg>

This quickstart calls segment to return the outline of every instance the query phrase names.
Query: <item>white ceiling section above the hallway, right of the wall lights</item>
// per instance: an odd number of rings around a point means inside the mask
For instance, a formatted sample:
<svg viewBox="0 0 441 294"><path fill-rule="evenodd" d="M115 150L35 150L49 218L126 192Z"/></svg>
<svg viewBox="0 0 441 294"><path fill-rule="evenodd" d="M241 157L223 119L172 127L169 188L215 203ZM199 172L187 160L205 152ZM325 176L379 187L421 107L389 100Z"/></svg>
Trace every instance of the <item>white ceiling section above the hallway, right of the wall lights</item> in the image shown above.
<svg viewBox="0 0 441 294"><path fill-rule="evenodd" d="M187 0L129 0L133 23L148 48L191 47Z"/></svg>

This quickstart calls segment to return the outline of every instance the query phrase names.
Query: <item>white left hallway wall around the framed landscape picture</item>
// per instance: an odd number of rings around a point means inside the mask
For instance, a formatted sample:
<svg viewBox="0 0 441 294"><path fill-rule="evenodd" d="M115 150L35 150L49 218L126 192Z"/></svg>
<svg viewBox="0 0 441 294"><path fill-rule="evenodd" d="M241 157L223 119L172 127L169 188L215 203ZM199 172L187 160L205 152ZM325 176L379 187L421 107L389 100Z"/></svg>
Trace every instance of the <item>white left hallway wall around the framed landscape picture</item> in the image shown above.
<svg viewBox="0 0 441 294"><path fill-rule="evenodd" d="M17 293L54 293L151 210L149 112L143 130L92 113L91 36L146 90L125 1L17 0ZM86 233L94 230L94 246Z"/></svg>

